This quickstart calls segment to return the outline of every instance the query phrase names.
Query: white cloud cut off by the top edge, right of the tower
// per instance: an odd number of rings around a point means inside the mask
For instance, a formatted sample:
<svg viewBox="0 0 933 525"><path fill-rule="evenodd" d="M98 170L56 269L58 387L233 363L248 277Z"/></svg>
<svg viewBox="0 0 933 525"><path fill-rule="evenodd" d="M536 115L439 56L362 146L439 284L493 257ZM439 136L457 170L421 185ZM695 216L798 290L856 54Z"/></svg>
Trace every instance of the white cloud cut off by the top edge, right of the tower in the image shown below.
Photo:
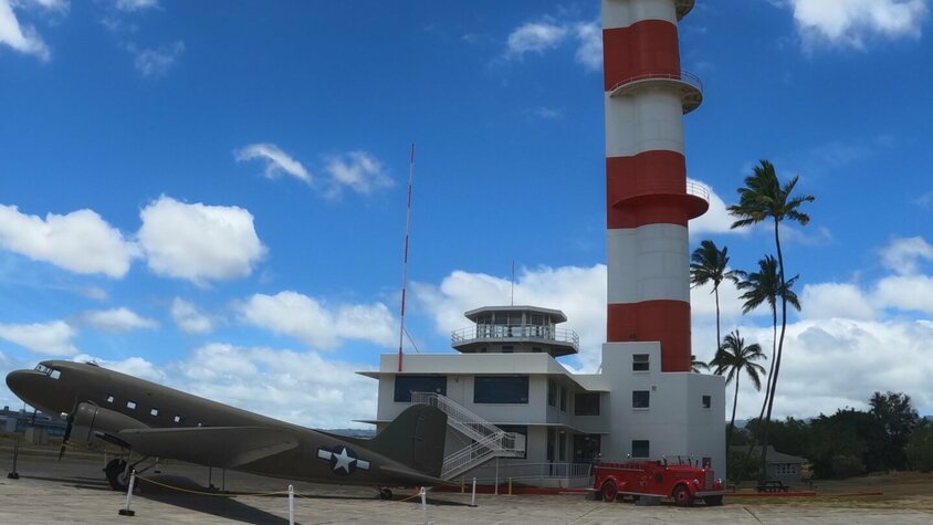
<svg viewBox="0 0 933 525"><path fill-rule="evenodd" d="M807 46L829 42L862 49L872 36L919 38L926 0L789 0Z"/></svg>

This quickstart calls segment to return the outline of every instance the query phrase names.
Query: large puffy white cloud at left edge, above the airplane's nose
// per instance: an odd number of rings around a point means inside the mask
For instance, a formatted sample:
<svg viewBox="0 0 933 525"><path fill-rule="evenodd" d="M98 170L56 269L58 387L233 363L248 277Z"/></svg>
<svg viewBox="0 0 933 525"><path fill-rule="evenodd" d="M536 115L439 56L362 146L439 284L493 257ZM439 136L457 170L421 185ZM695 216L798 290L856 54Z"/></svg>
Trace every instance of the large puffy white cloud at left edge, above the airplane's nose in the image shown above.
<svg viewBox="0 0 933 525"><path fill-rule="evenodd" d="M76 273L102 273L123 277L138 256L135 244L124 240L92 210L45 219L20 213L15 206L0 204L0 246Z"/></svg>

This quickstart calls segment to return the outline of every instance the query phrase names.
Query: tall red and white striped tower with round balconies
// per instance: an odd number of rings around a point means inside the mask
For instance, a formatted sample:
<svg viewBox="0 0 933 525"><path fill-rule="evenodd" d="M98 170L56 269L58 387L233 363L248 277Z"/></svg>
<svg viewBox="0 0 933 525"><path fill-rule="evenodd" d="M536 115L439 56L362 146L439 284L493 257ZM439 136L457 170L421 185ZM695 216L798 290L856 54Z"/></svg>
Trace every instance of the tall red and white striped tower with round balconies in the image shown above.
<svg viewBox="0 0 933 525"><path fill-rule="evenodd" d="M702 102L680 70L693 0L602 0L609 343L660 342L662 371L690 371L686 223L709 208L688 185L683 115Z"/></svg>

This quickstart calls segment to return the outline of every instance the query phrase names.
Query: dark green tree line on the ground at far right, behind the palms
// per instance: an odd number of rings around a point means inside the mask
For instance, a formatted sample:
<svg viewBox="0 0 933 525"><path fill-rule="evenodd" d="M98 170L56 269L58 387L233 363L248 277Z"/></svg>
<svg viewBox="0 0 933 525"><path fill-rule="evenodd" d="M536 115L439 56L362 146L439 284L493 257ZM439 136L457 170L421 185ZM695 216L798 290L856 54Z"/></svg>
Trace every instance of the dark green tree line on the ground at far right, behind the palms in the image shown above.
<svg viewBox="0 0 933 525"><path fill-rule="evenodd" d="M933 424L918 416L910 396L874 392L869 406L867 412L845 408L811 420L770 421L768 442L779 452L806 458L819 479L933 470ZM748 421L735 433L734 444L761 442L764 427L762 419ZM744 450L730 454L728 477L757 477L756 460L749 461Z"/></svg>

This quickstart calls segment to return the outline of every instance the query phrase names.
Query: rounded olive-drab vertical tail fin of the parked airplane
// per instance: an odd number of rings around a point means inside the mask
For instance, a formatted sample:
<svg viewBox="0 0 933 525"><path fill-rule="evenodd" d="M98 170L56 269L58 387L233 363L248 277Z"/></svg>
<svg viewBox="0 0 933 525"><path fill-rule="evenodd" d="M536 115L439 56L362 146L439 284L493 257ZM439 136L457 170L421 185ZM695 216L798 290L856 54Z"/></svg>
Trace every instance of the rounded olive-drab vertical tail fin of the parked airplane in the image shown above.
<svg viewBox="0 0 933 525"><path fill-rule="evenodd" d="M418 472L439 477L443 466L447 414L434 407L412 405L378 435L369 448Z"/></svg>

